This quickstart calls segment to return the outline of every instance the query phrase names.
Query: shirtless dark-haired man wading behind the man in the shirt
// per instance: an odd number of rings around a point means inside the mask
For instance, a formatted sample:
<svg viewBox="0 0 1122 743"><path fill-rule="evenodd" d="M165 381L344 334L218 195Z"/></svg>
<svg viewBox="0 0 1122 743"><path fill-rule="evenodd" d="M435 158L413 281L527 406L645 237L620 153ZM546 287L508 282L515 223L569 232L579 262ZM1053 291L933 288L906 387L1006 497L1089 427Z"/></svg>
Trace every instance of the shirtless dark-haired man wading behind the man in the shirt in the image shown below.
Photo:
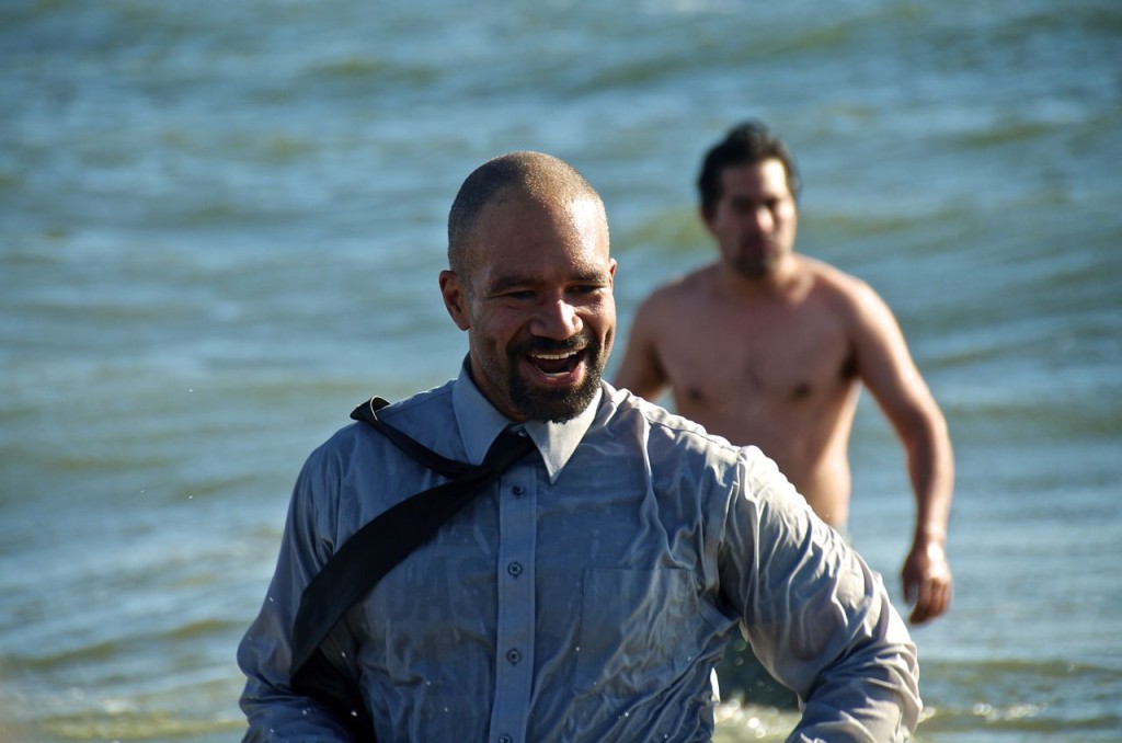
<svg viewBox="0 0 1122 743"><path fill-rule="evenodd" d="M640 306L616 386L655 400L670 385L677 412L758 446L844 531L863 384L903 444L916 495L902 570L910 621L941 615L953 588L954 455L895 318L861 279L794 253L798 173L766 127L732 129L706 156L698 187L720 256Z"/></svg>

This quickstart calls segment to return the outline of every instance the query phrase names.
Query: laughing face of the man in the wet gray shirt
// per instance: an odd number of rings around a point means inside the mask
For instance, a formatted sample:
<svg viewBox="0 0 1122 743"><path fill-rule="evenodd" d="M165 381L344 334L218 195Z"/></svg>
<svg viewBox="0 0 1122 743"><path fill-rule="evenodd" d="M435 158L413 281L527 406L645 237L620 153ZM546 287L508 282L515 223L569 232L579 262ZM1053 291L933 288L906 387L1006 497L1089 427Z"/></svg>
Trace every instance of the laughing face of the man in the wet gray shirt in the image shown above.
<svg viewBox="0 0 1122 743"><path fill-rule="evenodd" d="M499 194L480 214L465 263L467 276L441 274L441 292L468 331L479 389L516 421L583 411L616 325L616 262L600 203Z"/></svg>

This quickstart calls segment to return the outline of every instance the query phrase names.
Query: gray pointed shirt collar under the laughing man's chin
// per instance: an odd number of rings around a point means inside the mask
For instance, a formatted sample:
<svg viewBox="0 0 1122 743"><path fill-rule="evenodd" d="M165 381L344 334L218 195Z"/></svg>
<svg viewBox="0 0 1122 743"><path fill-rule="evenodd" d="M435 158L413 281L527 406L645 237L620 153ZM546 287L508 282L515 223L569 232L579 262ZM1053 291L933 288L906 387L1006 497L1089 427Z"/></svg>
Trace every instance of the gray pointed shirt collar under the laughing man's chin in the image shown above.
<svg viewBox="0 0 1122 743"><path fill-rule="evenodd" d="M596 397L579 415L564 423L526 421L515 425L515 428L521 425L537 447L545 462L550 483L557 481L561 470L577 450L577 444L585 438L603 397L601 387L596 391ZM452 407L460 428L460 438L463 440L463 450L468 452L468 460L476 465L484 460L499 431L514 423L498 412L479 392L468 372L467 361L460 368L460 376L452 386Z"/></svg>

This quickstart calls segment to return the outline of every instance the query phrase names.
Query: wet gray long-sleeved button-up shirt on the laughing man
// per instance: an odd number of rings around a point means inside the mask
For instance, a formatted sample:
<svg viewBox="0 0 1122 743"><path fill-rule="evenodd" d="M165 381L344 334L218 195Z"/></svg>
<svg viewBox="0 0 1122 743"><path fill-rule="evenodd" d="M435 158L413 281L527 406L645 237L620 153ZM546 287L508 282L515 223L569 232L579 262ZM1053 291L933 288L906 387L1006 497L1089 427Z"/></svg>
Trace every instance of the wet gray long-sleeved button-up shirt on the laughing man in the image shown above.
<svg viewBox="0 0 1122 743"><path fill-rule="evenodd" d="M479 462L511 423L466 373L379 416ZM916 651L880 577L755 448L604 384L528 422L531 453L348 615L379 741L708 741L710 670L739 625L804 703L792 740L903 740ZM307 459L238 650L248 740L342 740L287 688L301 591L394 503L443 481L365 423Z"/></svg>

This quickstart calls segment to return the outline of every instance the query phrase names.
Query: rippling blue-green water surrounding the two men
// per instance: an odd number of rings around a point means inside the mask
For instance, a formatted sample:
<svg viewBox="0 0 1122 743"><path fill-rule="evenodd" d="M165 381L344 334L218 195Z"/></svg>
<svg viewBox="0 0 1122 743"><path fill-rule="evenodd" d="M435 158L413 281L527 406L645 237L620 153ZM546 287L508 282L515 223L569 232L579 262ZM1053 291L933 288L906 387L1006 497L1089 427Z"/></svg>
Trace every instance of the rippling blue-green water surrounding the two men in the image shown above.
<svg viewBox="0 0 1122 743"><path fill-rule="evenodd" d="M304 457L465 352L463 177L588 176L624 339L712 257L698 163L758 117L800 249L889 301L950 422L919 740L1122 740L1120 38L1112 0L0 2L0 739L237 740ZM913 508L867 397L853 458L899 600Z"/></svg>

